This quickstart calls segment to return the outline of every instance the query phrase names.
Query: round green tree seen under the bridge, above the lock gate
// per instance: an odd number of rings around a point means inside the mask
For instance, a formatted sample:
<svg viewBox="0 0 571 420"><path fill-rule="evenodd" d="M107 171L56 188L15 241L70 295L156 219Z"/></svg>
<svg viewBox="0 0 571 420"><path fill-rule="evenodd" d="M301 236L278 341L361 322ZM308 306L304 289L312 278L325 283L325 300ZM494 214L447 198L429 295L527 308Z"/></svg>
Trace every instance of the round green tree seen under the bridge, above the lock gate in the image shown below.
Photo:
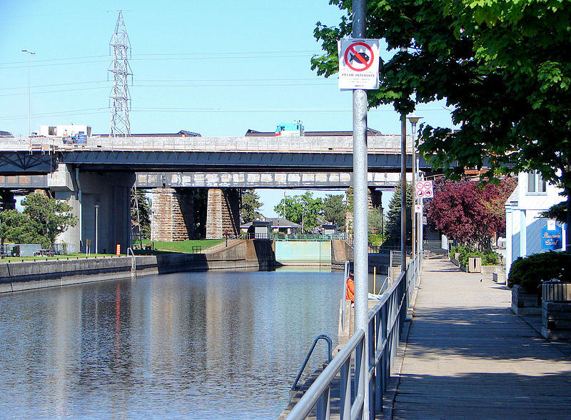
<svg viewBox="0 0 571 420"><path fill-rule="evenodd" d="M304 232L323 223L323 203L321 199L314 199L313 193L309 191L300 196L284 197L273 211L293 223L300 224Z"/></svg>

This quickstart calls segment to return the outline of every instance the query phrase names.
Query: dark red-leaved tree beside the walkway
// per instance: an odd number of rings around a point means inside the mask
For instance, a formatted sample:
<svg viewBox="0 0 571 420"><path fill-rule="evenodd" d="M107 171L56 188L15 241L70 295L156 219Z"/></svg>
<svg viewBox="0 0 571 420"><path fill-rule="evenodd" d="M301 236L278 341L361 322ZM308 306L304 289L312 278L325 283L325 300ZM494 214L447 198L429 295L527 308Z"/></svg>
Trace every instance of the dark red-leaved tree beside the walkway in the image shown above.
<svg viewBox="0 0 571 420"><path fill-rule="evenodd" d="M425 200L429 226L484 251L494 234L505 234L504 204L516 184L512 178L485 186L469 179L436 181L433 199Z"/></svg>

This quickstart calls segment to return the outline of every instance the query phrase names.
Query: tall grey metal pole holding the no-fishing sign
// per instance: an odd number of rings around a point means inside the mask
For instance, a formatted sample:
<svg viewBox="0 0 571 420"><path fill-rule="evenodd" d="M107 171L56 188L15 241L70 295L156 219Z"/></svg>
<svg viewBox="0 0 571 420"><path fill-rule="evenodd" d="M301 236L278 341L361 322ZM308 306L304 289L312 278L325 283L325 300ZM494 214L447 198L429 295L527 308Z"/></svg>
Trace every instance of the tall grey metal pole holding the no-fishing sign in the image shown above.
<svg viewBox="0 0 571 420"><path fill-rule="evenodd" d="M366 37L366 1L353 0L353 38ZM367 92L353 90L353 229L355 249L355 332L365 331L363 361L368 361L368 189ZM363 363L359 388L363 390L363 419L369 417L368 363Z"/></svg>

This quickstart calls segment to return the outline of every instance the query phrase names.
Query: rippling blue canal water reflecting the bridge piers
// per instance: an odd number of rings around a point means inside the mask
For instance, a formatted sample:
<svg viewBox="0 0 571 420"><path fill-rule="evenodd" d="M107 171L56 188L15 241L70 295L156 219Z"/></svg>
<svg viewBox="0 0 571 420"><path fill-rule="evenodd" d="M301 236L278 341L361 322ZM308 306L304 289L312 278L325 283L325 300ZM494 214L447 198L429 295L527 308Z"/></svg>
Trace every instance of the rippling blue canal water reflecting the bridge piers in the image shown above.
<svg viewBox="0 0 571 420"><path fill-rule="evenodd" d="M0 295L0 417L275 419L337 341L343 274L300 270Z"/></svg>

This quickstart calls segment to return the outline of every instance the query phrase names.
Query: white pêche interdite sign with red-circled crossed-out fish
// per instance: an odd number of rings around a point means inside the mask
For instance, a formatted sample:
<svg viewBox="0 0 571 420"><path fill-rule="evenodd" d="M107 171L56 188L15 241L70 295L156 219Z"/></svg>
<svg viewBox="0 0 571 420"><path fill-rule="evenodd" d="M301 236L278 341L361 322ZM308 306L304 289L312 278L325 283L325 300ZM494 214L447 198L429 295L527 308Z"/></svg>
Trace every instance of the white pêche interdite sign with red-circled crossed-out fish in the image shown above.
<svg viewBox="0 0 571 420"><path fill-rule="evenodd" d="M378 39L341 39L337 49L339 89L378 89Z"/></svg>

